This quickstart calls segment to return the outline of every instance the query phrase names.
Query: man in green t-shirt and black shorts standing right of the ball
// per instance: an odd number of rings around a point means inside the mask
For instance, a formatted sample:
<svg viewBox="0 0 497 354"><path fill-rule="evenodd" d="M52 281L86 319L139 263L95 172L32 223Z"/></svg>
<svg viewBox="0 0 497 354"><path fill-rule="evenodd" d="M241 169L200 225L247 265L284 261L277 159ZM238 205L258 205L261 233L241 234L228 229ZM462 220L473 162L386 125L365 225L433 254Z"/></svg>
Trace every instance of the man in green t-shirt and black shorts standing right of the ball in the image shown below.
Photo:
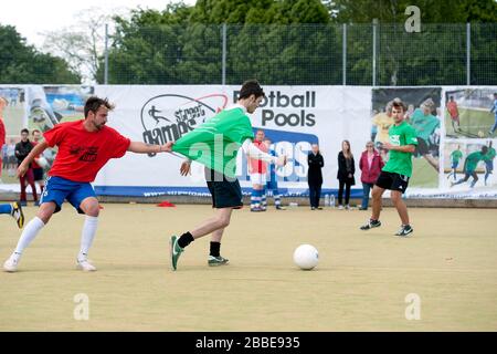
<svg viewBox="0 0 497 354"><path fill-rule="evenodd" d="M400 100L393 101L392 116L394 124L389 129L389 143L383 145L390 150L390 158L383 166L372 190L372 215L369 221L361 226L361 230L369 230L381 226L381 196L390 189L390 198L402 220L401 229L395 236L408 237L413 232L409 223L408 207L402 200L402 194L408 188L412 175L412 154L417 145L414 128L404 122L404 104Z"/></svg>

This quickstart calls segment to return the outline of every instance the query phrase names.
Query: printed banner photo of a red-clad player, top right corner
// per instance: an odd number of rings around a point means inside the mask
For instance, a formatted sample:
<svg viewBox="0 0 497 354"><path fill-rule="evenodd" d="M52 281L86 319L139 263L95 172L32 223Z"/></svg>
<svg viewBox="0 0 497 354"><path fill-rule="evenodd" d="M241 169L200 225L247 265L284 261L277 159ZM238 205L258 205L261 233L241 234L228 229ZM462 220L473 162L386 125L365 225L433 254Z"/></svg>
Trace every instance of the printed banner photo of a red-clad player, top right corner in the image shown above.
<svg viewBox="0 0 497 354"><path fill-rule="evenodd" d="M497 90L461 88L445 92L445 126L448 138L495 137Z"/></svg>

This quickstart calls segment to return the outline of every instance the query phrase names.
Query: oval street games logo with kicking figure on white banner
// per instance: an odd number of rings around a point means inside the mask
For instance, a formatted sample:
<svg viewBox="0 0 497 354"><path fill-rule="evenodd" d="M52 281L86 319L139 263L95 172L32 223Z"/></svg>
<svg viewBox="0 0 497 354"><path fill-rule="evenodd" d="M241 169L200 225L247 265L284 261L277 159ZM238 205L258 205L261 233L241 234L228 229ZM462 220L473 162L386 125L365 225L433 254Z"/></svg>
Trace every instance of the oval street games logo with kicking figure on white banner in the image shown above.
<svg viewBox="0 0 497 354"><path fill-rule="evenodd" d="M144 104L140 112L144 142L162 145L177 140L223 110L226 103L224 94L199 98L178 94L155 96Z"/></svg>

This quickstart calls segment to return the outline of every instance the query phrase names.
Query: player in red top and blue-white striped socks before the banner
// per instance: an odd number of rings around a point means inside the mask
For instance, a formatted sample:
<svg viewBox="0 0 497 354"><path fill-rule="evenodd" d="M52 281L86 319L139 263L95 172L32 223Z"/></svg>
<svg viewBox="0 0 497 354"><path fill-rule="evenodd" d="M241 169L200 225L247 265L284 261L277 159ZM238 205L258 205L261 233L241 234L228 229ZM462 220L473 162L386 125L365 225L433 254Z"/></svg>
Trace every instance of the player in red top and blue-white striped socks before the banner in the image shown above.
<svg viewBox="0 0 497 354"><path fill-rule="evenodd" d="M263 153L267 153L267 147L263 143L264 131L258 129L255 133L253 144ZM266 211L266 196L264 188L266 186L266 163L261 159L248 158L248 174L252 183L251 211Z"/></svg>

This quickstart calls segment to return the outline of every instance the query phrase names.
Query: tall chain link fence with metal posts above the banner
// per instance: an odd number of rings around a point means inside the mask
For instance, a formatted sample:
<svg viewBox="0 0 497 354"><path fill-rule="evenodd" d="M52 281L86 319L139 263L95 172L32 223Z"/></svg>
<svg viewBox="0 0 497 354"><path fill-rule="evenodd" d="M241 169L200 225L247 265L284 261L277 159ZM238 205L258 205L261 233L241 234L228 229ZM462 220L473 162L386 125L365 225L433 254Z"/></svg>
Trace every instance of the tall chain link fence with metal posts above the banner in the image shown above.
<svg viewBox="0 0 497 354"><path fill-rule="evenodd" d="M107 84L497 84L497 23L175 24L120 29L108 43Z"/></svg>

